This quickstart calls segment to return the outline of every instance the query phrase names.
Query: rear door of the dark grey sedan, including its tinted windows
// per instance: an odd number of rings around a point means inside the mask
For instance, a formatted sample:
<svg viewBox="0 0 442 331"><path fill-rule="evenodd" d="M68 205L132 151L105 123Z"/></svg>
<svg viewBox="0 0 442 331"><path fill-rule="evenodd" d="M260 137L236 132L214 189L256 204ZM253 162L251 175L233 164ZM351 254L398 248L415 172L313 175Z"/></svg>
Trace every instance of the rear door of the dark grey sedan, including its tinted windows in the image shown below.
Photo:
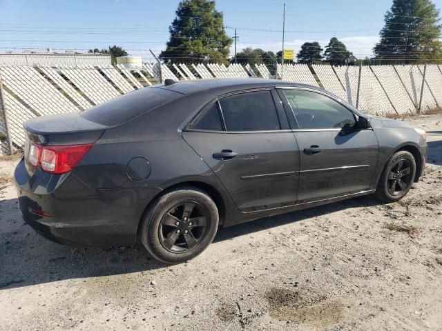
<svg viewBox="0 0 442 331"><path fill-rule="evenodd" d="M242 211L296 203L299 150L276 90L237 92L182 133Z"/></svg>

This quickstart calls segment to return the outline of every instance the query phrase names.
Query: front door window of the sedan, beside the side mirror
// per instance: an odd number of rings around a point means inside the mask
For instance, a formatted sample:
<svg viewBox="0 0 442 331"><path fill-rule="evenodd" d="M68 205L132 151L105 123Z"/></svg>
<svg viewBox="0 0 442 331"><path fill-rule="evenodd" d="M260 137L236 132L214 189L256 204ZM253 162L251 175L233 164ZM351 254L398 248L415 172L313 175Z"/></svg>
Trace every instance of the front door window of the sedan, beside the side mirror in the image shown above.
<svg viewBox="0 0 442 331"><path fill-rule="evenodd" d="M353 128L353 112L324 94L305 90L283 90L302 129Z"/></svg>

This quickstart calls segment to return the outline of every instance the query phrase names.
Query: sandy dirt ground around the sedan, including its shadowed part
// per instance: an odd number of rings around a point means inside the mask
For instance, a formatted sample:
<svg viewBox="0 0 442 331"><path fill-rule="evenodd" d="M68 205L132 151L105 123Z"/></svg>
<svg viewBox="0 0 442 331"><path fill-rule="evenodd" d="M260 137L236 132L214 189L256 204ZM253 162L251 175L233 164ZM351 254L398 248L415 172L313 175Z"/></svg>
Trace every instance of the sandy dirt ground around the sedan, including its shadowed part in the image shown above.
<svg viewBox="0 0 442 331"><path fill-rule="evenodd" d="M405 120L434 135L402 201L222 228L173 266L39 237L17 211L17 160L0 161L0 329L442 330L442 117Z"/></svg>

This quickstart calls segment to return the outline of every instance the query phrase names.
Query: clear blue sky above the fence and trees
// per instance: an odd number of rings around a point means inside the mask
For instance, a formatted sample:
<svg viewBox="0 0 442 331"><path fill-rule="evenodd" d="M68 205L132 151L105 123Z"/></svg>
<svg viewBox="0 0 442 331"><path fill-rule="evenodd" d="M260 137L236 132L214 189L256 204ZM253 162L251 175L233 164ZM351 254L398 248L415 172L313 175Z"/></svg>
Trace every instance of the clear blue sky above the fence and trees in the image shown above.
<svg viewBox="0 0 442 331"><path fill-rule="evenodd" d="M356 57L372 54L392 0L287 0L286 48L305 41L325 46L343 41ZM433 1L442 8L442 0ZM178 0L0 0L0 52L22 48L56 52L107 48L117 44L151 60L169 39ZM217 0L224 24L236 27L238 50L251 46L281 49L283 0ZM273 31L265 31L273 30ZM233 29L227 28L233 35ZM233 47L231 48L233 52Z"/></svg>

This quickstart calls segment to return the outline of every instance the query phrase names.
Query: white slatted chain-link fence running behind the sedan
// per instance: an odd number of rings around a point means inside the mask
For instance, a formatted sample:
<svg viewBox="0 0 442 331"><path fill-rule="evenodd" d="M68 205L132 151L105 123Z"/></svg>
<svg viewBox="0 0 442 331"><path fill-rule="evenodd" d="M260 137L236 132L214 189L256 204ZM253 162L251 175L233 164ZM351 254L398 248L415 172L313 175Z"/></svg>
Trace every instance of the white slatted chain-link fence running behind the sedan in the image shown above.
<svg viewBox="0 0 442 331"><path fill-rule="evenodd" d="M10 143L14 148L23 146L23 122L27 119L81 112L164 79L282 78L325 88L363 112L376 115L413 114L442 103L442 67L437 65L359 68L285 64L281 69L278 64L275 75L271 73L275 68L264 64L146 63L142 68L0 66L0 154L10 152Z"/></svg>

